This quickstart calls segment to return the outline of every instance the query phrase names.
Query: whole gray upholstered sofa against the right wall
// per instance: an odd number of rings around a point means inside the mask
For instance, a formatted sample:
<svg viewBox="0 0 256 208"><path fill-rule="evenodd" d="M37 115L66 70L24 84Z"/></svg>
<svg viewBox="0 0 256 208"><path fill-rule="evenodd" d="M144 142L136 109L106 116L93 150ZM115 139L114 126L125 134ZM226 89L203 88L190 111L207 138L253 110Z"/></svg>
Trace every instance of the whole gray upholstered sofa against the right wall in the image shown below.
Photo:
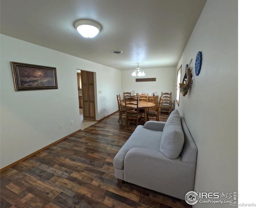
<svg viewBox="0 0 256 208"><path fill-rule="evenodd" d="M138 125L114 157L115 177L184 200L194 190L197 147L178 110Z"/></svg>

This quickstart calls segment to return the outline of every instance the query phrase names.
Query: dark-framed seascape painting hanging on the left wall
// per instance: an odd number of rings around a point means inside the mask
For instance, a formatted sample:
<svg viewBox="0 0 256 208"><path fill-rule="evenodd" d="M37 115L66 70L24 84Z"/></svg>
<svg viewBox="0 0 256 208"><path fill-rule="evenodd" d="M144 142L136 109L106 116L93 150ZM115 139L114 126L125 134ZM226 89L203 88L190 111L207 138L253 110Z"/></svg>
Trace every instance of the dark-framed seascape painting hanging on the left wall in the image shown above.
<svg viewBox="0 0 256 208"><path fill-rule="evenodd" d="M15 91L58 89L56 68L11 61Z"/></svg>

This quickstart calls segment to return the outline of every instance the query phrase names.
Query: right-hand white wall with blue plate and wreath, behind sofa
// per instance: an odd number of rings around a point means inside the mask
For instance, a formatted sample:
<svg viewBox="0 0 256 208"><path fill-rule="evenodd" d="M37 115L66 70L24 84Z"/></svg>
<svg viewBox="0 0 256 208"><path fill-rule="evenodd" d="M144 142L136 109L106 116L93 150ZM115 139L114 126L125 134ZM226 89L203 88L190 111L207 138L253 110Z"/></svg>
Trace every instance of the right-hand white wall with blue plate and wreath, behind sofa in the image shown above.
<svg viewBox="0 0 256 208"><path fill-rule="evenodd" d="M194 64L202 52L202 68ZM198 147L195 191L238 190L238 2L208 0L183 52L192 60L193 83L176 108L184 116ZM182 78L184 70L182 70ZM239 193L238 193L239 196ZM230 207L200 204L195 208Z"/></svg>

